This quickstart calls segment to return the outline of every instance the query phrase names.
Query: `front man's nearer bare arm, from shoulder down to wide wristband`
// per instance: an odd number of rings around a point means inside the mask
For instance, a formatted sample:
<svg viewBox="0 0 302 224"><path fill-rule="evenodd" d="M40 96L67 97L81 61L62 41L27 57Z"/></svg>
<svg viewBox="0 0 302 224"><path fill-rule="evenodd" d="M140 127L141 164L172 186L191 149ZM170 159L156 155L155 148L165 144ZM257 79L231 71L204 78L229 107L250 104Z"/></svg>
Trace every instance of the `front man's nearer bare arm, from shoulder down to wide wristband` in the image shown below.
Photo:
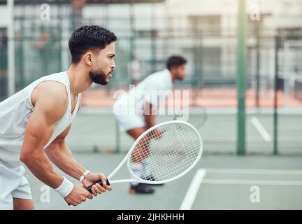
<svg viewBox="0 0 302 224"><path fill-rule="evenodd" d="M31 94L34 111L29 118L24 134L20 160L46 185L57 188L62 176L53 169L44 152L44 146L55 130L55 123L64 116L68 98L60 83L41 83Z"/></svg>

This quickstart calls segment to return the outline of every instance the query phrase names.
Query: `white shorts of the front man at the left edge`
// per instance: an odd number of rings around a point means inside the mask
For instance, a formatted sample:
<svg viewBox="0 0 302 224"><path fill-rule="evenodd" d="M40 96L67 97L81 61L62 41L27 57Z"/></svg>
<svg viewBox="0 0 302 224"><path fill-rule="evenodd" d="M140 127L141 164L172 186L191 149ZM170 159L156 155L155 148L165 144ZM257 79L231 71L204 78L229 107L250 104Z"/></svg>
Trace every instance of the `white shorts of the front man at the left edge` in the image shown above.
<svg viewBox="0 0 302 224"><path fill-rule="evenodd" d="M7 168L0 165L0 210L13 209L13 198L32 199L24 173L23 166Z"/></svg>

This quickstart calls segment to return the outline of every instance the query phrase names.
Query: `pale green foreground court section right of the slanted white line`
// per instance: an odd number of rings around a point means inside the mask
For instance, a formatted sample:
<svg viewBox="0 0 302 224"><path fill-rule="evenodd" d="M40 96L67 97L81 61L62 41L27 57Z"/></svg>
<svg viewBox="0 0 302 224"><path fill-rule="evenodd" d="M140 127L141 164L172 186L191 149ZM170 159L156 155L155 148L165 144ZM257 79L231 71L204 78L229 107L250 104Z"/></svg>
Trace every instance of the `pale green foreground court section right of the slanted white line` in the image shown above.
<svg viewBox="0 0 302 224"><path fill-rule="evenodd" d="M206 172L206 175L200 183L192 209L302 208L301 170L201 169L201 171Z"/></svg>

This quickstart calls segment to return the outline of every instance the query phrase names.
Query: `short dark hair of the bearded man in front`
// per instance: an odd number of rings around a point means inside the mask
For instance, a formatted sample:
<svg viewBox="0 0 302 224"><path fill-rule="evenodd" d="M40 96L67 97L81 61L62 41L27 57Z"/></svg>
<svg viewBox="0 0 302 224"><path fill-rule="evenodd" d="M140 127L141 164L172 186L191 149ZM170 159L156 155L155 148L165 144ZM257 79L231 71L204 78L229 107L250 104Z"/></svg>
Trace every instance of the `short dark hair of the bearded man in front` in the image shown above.
<svg viewBox="0 0 302 224"><path fill-rule="evenodd" d="M115 34L103 27L97 25L79 27L73 30L69 38L71 62L78 64L87 50L101 50L116 40Z"/></svg>

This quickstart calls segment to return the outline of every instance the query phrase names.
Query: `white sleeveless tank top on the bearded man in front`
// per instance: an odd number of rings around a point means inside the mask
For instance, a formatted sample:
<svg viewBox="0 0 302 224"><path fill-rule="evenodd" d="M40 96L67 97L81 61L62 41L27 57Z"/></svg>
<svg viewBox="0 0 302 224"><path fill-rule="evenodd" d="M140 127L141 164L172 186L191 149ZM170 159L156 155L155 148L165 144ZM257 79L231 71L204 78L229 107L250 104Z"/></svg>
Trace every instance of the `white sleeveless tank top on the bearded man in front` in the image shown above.
<svg viewBox="0 0 302 224"><path fill-rule="evenodd" d="M67 72L54 73L43 76L34 81L23 90L20 90L8 99L0 102L0 164L8 168L22 165L20 162L20 151L23 144L25 128L34 106L31 104L31 92L43 81L57 81L66 87L69 104L64 116L55 124L52 137L44 148L48 147L59 134L64 132L71 124L78 112L80 94L78 94L75 109L71 113L71 92ZM55 110L55 109L54 109Z"/></svg>

